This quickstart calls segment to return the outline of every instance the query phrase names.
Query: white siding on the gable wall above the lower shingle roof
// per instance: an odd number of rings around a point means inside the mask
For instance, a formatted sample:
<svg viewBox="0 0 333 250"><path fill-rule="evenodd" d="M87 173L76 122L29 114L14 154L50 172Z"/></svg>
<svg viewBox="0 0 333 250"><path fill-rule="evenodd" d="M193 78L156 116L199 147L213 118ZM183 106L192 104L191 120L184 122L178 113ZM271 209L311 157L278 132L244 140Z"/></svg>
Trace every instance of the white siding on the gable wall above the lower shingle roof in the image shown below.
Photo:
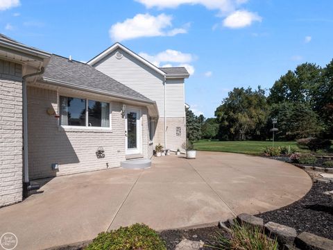
<svg viewBox="0 0 333 250"><path fill-rule="evenodd" d="M116 58L117 51L123 54L121 59ZM164 76L121 49L113 51L92 66L156 101L160 117L164 117Z"/></svg>

